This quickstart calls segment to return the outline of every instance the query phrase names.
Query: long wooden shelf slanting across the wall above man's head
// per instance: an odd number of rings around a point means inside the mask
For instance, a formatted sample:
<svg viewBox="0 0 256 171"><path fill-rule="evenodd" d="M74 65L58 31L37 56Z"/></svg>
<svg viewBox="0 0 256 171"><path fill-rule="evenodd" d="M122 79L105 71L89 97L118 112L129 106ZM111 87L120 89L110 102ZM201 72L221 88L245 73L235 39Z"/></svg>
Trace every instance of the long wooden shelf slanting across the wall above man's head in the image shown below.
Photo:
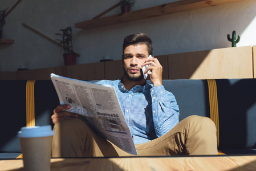
<svg viewBox="0 0 256 171"><path fill-rule="evenodd" d="M205 7L217 6L225 3L238 1L245 0L181 0L177 2L166 3L164 5L149 7L146 9L131 11L124 14L111 15L108 17L96 18L90 21L75 23L75 27L82 29L91 29L97 27L111 26L118 23L137 21L140 19L202 9Z"/></svg>

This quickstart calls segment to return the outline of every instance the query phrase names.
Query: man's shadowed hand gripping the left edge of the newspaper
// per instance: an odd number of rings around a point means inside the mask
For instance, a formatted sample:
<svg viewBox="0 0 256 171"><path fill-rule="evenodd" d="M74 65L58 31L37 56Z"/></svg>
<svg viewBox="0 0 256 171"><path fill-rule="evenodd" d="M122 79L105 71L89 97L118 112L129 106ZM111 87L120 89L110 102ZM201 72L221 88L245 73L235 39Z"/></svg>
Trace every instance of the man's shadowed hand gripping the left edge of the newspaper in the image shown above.
<svg viewBox="0 0 256 171"><path fill-rule="evenodd" d="M59 121L64 120L64 119L69 119L70 117L77 118L78 114L63 111L64 109L68 110L70 108L71 108L71 106L68 104L58 105L58 107L56 107L54 109L54 115L51 116L52 123L56 124Z"/></svg>

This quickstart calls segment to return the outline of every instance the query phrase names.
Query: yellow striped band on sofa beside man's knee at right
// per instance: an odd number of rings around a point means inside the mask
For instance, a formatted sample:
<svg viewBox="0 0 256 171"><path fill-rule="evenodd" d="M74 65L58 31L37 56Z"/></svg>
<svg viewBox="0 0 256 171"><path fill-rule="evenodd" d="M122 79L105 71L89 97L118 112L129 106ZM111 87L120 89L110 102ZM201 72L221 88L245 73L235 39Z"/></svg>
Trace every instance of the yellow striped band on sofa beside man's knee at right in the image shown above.
<svg viewBox="0 0 256 171"><path fill-rule="evenodd" d="M217 84L214 79L208 79L209 88L209 102L210 102L210 119L213 120L216 125L217 144L220 144L219 136L219 113L218 113L218 97L217 97Z"/></svg>

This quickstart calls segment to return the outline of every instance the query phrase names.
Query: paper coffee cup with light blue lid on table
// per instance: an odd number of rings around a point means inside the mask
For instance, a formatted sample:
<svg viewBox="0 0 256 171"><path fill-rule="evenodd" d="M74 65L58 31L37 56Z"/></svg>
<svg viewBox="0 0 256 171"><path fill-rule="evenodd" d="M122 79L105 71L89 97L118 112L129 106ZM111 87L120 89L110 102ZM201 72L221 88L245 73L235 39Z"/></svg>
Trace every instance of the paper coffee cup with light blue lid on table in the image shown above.
<svg viewBox="0 0 256 171"><path fill-rule="evenodd" d="M24 170L50 171L53 135L51 125L21 128L18 137L21 142Z"/></svg>

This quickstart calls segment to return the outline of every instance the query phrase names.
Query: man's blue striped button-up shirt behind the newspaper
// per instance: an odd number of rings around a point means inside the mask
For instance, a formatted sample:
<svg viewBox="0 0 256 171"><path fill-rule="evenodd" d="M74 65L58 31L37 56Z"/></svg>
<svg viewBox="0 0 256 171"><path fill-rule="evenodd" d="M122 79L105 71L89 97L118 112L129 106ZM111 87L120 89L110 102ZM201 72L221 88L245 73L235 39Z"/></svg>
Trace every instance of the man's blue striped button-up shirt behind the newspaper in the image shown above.
<svg viewBox="0 0 256 171"><path fill-rule="evenodd" d="M135 144L146 143L165 135L177 123L179 109L174 95L164 86L152 84L124 88L120 80L101 80L96 84L115 87L117 98L124 113Z"/></svg>

